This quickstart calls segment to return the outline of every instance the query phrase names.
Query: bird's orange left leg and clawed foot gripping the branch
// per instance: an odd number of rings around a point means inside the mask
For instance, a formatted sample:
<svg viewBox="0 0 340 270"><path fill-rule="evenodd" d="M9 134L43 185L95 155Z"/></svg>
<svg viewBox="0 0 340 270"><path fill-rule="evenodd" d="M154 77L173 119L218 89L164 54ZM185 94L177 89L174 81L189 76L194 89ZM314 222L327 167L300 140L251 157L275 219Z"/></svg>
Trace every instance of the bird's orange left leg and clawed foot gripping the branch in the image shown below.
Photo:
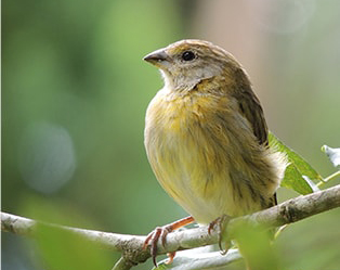
<svg viewBox="0 0 340 270"><path fill-rule="evenodd" d="M157 227L154 231L152 231L147 236L144 242L143 248L145 249L148 245L151 245L151 255L153 257L153 261L155 267L157 267L156 262L156 256L157 256L157 243L158 240L161 241L161 245L166 245L166 237L169 232L172 232L176 229L180 229L181 227L184 227L186 224L193 223L195 220L193 217L186 217L183 219L180 219L178 221L174 221L170 224L164 226L164 227ZM169 253L169 261L167 263L171 263L173 258L174 258L175 252Z"/></svg>

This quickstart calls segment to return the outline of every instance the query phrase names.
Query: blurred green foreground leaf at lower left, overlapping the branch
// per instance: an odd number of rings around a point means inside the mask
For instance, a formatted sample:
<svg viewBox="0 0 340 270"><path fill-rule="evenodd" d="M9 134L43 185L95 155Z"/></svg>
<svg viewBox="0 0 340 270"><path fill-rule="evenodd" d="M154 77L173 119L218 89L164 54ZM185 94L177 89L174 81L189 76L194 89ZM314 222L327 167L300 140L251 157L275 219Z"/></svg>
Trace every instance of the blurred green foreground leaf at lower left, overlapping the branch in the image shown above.
<svg viewBox="0 0 340 270"><path fill-rule="evenodd" d="M27 196L21 208L25 216L49 223L60 223L73 227L92 227L94 223L81 211L76 211L68 204L42 196ZM66 201L65 201L66 202ZM95 226L93 226L95 228ZM75 232L66 231L57 226L38 223L35 229L38 263L49 270L107 270L118 254L100 248L93 242L83 239Z"/></svg>

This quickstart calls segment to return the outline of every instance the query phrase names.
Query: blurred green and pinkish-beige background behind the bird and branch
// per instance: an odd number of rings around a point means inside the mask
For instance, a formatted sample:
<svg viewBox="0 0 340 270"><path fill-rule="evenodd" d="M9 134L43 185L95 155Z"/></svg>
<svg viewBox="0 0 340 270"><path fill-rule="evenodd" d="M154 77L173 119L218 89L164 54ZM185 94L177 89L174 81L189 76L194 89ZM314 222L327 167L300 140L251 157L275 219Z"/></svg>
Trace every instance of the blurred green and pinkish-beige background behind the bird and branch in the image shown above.
<svg viewBox="0 0 340 270"><path fill-rule="evenodd" d="M183 38L232 52L252 78L270 129L323 176L335 171L319 149L340 146L337 0L4 0L2 22L3 211L129 234L184 217L144 152L145 110L162 81L142 61ZM338 269L339 215L280 235L287 269ZM75 258L88 263L82 269L110 269L119 258L79 255L64 241L51 257L43 241L2 233L2 269L77 269L61 262Z"/></svg>

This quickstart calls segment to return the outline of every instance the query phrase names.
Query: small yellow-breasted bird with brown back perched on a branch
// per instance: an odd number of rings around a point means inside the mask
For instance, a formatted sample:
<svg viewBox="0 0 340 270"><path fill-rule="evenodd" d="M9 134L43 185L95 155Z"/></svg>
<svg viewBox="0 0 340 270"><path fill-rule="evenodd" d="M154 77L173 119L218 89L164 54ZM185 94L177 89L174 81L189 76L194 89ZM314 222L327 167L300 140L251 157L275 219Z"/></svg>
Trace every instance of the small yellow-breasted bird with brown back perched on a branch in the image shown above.
<svg viewBox="0 0 340 270"><path fill-rule="evenodd" d="M276 205L286 162L269 146L260 101L230 52L209 41L184 39L144 61L164 79L146 110L146 155L160 185L189 214L148 234L144 247L152 246L157 266L157 242L165 244L174 229Z"/></svg>

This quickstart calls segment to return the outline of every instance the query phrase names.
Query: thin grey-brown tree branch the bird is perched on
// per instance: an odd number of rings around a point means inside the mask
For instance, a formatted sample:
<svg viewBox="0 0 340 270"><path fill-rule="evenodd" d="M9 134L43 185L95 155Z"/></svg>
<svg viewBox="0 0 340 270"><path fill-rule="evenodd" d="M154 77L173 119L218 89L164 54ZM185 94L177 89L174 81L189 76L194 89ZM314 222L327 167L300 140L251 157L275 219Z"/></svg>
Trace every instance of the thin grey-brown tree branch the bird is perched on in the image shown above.
<svg viewBox="0 0 340 270"><path fill-rule="evenodd" d="M252 227L274 228L292 223L339 206L340 184L324 191L286 201L277 206L259 213L234 218L226 224L225 231L228 236L233 237L237 228L245 223ZM56 226L1 213L2 231L34 237L38 224L73 232L101 247L120 252L122 257L116 263L114 268L115 270L130 269L140 262L144 262L151 257L149 252L143 250L142 248L145 236ZM162 245L158 246L158 254L215 244L218 241L219 232L212 231L211 234L209 234L207 227L175 231L168 234L165 247Z"/></svg>

